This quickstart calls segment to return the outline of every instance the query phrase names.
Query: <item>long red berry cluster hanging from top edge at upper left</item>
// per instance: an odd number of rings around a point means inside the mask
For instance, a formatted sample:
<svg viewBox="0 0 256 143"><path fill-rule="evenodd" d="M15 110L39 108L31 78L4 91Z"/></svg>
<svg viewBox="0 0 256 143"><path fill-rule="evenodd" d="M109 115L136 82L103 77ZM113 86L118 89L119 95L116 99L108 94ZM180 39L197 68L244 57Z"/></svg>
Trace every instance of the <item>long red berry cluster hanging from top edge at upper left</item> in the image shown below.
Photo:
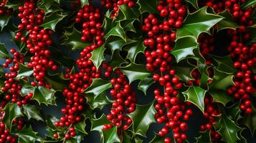
<svg viewBox="0 0 256 143"><path fill-rule="evenodd" d="M53 34L52 30L39 27L44 21L44 11L37 9L34 1L27 1L23 6L19 6L19 18L22 23L18 25L19 32L16 33L15 39L20 39L29 49L32 57L27 64L29 68L33 68L33 76L37 79L39 86L46 86L44 77L47 68L56 70L57 66L49 59L51 51L47 46L52 44L49 36ZM22 31L28 35L22 34ZM36 86L37 82L32 82L32 86Z"/></svg>

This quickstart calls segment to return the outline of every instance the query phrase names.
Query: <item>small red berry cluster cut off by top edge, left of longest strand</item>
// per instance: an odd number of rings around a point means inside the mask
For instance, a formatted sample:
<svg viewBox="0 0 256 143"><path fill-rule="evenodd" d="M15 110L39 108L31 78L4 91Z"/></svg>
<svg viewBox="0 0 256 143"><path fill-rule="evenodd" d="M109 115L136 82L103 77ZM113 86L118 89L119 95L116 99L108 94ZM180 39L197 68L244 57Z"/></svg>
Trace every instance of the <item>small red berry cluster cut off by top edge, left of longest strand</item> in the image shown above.
<svg viewBox="0 0 256 143"><path fill-rule="evenodd" d="M113 8L113 13L111 14L111 17L114 19L116 16L118 16L118 11L120 5L127 4L130 8L135 5L133 0L102 0L101 5L105 6L107 9Z"/></svg>

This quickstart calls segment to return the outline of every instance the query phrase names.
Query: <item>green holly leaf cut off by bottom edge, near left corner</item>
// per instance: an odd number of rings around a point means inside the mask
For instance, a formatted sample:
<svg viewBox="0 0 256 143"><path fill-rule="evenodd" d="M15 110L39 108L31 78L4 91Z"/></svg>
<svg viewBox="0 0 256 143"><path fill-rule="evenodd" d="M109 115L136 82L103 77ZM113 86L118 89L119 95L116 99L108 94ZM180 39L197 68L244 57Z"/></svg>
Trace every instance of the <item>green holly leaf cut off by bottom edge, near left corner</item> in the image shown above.
<svg viewBox="0 0 256 143"><path fill-rule="evenodd" d="M19 142L42 142L42 139L37 136L37 133L32 130L32 127L29 126L23 127L20 132L15 133L19 137Z"/></svg>

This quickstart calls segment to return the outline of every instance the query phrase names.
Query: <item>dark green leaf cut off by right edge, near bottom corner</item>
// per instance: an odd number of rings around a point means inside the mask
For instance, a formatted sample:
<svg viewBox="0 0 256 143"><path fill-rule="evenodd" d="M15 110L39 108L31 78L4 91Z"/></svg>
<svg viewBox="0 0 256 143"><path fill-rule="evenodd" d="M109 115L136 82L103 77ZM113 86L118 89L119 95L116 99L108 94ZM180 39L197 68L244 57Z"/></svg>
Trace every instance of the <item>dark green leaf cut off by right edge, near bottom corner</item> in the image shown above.
<svg viewBox="0 0 256 143"><path fill-rule="evenodd" d="M245 118L243 119L242 123L250 129L251 135L255 134L256 130L256 109L252 107L251 114L245 114Z"/></svg>

